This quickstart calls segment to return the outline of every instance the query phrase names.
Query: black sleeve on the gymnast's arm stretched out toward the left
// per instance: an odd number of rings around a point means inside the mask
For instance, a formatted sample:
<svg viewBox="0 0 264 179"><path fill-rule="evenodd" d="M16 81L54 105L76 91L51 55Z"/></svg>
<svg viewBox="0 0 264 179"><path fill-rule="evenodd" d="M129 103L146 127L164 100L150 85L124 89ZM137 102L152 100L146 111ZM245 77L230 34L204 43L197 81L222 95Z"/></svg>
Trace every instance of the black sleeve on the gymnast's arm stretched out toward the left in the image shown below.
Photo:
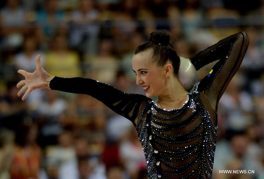
<svg viewBox="0 0 264 179"><path fill-rule="evenodd" d="M90 95L103 102L114 112L129 119L136 126L139 111L146 96L140 94L128 94L105 83L86 78L60 78L54 77L50 81L50 89Z"/></svg>

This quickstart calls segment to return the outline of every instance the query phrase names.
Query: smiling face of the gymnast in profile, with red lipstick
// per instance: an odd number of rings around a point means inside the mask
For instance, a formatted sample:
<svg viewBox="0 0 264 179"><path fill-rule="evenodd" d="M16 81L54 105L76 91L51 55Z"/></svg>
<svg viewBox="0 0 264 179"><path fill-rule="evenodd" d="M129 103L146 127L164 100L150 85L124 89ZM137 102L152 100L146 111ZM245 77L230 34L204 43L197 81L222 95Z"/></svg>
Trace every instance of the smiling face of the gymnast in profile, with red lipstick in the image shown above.
<svg viewBox="0 0 264 179"><path fill-rule="evenodd" d="M152 62L152 51L145 50L132 58L133 71L136 73L137 85L141 86L148 98L164 94L165 69Z"/></svg>

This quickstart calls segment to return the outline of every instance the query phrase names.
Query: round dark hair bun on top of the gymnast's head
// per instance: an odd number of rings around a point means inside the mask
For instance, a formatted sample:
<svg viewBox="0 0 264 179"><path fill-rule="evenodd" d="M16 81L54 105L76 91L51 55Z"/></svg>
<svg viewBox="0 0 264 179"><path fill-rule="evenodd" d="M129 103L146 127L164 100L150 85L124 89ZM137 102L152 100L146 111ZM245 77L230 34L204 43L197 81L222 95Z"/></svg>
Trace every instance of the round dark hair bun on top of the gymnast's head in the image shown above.
<svg viewBox="0 0 264 179"><path fill-rule="evenodd" d="M170 45L171 35L167 30L155 30L150 34L148 40L155 45Z"/></svg>

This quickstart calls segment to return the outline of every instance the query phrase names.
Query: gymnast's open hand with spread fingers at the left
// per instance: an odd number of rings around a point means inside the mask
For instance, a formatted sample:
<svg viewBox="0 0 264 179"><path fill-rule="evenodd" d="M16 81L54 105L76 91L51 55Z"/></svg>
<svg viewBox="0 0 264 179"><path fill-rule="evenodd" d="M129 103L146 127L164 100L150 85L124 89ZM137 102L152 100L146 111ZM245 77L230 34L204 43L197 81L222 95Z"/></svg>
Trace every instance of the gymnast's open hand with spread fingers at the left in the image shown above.
<svg viewBox="0 0 264 179"><path fill-rule="evenodd" d="M36 58L37 68L33 73L29 73L25 70L18 70L18 73L25 76L25 80L22 80L17 83L16 87L19 88L21 85L24 85L21 90L17 93L20 96L24 91L26 93L22 97L22 100L25 100L26 97L35 89L50 89L48 83L54 76L49 75L42 67L40 63L40 55Z"/></svg>

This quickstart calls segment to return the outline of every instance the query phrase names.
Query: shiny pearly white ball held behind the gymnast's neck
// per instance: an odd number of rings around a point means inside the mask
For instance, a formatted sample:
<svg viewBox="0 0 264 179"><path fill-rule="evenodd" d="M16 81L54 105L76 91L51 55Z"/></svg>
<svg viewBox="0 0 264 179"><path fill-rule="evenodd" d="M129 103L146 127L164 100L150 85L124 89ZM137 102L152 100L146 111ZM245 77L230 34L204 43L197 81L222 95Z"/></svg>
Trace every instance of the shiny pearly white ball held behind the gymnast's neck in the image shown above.
<svg viewBox="0 0 264 179"><path fill-rule="evenodd" d="M198 81L197 71L188 59L180 57L180 61L178 79L185 91L190 92Z"/></svg>

